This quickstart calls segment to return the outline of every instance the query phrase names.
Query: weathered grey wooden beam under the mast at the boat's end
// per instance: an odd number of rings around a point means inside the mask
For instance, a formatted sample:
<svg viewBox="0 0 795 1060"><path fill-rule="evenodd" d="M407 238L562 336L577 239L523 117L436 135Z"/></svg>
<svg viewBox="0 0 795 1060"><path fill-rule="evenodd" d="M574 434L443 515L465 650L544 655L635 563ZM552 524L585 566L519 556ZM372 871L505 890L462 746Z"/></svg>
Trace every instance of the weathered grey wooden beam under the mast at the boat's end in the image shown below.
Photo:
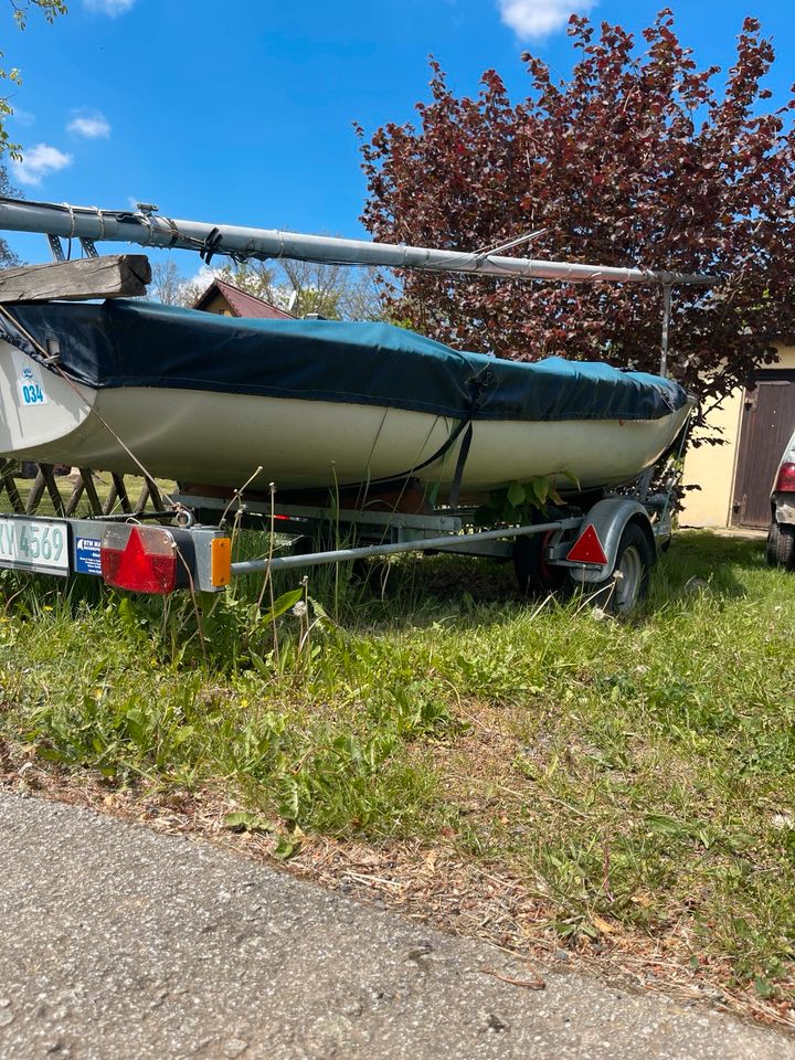
<svg viewBox="0 0 795 1060"><path fill-rule="evenodd" d="M2 269L0 303L135 298L146 294L149 283L151 266L146 254L80 257Z"/></svg>

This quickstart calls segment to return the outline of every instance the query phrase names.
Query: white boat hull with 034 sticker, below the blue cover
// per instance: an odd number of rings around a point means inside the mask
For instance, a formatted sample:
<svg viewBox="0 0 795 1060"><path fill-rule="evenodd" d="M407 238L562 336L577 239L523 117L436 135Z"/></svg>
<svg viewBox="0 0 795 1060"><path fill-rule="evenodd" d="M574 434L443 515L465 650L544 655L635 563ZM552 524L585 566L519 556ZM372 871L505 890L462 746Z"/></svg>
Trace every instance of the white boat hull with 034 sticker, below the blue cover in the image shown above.
<svg viewBox="0 0 795 1060"><path fill-rule="evenodd" d="M24 379L41 389L41 402L25 401ZM562 491L572 489L568 476L582 489L630 481L665 452L688 413L686 406L648 421L476 421L462 491L484 494L537 475L556 478ZM463 434L425 462L458 423L367 404L155 386L94 390L0 340L0 454L18 459L135 474L142 465L157 477L222 487L254 476L252 488L274 483L279 490L412 475L438 486L443 499Z"/></svg>

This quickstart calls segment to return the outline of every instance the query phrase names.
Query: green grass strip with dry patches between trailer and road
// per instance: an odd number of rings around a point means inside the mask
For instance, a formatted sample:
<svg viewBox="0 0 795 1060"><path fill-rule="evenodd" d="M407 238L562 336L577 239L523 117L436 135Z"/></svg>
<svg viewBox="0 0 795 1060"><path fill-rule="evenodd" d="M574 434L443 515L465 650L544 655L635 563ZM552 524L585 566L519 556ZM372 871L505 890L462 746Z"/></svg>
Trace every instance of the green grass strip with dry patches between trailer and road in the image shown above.
<svg viewBox="0 0 795 1060"><path fill-rule="evenodd" d="M412 558L382 593L328 570L276 619L248 584L198 622L189 600L4 572L0 763L211 791L280 855L444 850L509 882L502 944L647 954L788 1019L792 575L688 532L630 623L530 607L511 581Z"/></svg>

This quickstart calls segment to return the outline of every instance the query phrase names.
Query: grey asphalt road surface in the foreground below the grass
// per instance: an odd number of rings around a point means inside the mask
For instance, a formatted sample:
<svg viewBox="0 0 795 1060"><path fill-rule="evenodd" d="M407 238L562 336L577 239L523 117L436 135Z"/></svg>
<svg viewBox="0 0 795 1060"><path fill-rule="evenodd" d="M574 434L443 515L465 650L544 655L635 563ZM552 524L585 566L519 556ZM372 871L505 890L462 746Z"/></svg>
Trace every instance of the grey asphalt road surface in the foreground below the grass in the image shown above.
<svg viewBox="0 0 795 1060"><path fill-rule="evenodd" d="M202 842L0 792L2 1060L795 1060L719 1014L544 969Z"/></svg>

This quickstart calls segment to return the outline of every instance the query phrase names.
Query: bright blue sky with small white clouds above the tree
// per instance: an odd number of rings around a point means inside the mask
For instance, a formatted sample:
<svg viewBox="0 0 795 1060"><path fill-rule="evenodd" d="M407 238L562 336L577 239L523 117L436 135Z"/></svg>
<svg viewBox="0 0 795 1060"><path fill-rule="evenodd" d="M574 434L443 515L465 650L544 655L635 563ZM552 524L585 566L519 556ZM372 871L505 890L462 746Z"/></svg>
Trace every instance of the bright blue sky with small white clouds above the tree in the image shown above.
<svg viewBox="0 0 795 1060"><path fill-rule="evenodd" d="M564 76L572 10L639 31L654 0L70 0L54 25L6 18L2 50L21 67L9 121L25 159L12 179L31 199L177 218L362 234L364 198L352 123L410 120L427 98L434 54L459 94L496 67L527 93L524 50ZM674 4L701 65L731 63L746 14L776 45L768 81L795 81L795 28L784 0ZM43 236L10 237L29 261ZM197 259L178 258L186 275Z"/></svg>

